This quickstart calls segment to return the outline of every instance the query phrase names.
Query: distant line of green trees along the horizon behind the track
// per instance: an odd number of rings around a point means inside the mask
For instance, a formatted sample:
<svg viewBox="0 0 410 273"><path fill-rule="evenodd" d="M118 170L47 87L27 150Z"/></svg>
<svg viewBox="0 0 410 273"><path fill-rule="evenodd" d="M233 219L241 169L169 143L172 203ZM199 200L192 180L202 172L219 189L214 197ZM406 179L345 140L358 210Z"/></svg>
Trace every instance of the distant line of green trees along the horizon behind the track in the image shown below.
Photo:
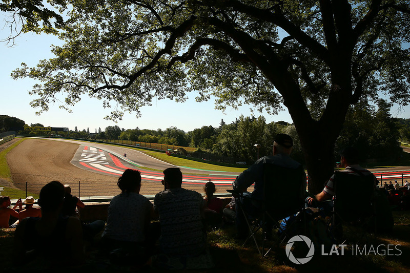
<svg viewBox="0 0 410 273"><path fill-rule="evenodd" d="M400 142L410 140L410 119L392 118L389 113L391 103L380 99L375 106L367 103L358 103L351 106L343 130L336 142L335 160L339 159L338 153L345 146L356 146L362 155L362 160L396 160L400 158L402 149ZM0 133L8 128L21 127L25 122L15 117L0 115ZM26 124L27 125L27 124ZM32 123L30 126L41 126ZM219 127L202 126L190 132L185 132L176 127L166 130L127 129L117 125L108 126L104 131L101 128L90 133L89 128L79 131L75 127L69 132L48 132L48 135L63 137L91 138L91 139L122 139L159 143L176 146L189 146L197 148L198 152L216 156L234 158L248 164L257 160L259 144L259 157L272 154L273 137L278 133L285 133L294 139L292 157L304 162L303 151L295 126L285 121L267 123L263 116L239 116L235 121L227 124L221 119ZM30 135L44 135L44 132L30 132ZM312 132L315 134L315 132ZM320 149L320 143L317 143Z"/></svg>

